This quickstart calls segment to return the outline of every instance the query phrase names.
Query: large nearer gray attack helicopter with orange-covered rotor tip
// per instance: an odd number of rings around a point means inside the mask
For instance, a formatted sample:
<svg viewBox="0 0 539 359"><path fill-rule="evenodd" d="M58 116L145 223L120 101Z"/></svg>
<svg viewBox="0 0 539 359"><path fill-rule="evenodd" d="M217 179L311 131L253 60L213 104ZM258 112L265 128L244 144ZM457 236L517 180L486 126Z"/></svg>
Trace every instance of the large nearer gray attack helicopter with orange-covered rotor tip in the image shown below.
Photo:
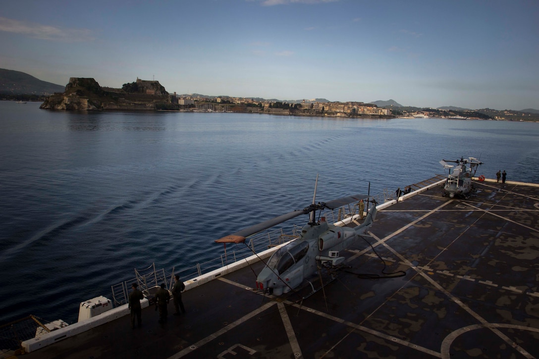
<svg viewBox="0 0 539 359"><path fill-rule="evenodd" d="M317 274L321 275L320 268L322 266L331 269L342 264L345 258L341 257L339 252L350 246L361 236L368 236L367 232L376 217L376 201L374 199L368 201L374 205L368 211L364 222L351 228L329 224L324 217L316 220L316 211L321 213L323 209L334 210L349 203L358 202L360 199L368 198L367 195L358 194L317 204L315 204L315 197L316 185L313 203L308 207L266 220L216 240L217 243L225 243L225 245L226 243L245 243L245 238L251 236L251 234L258 233L300 215L309 215L309 222L303 226L299 238L273 253L266 266L258 274L256 282L258 290L266 291L273 295L282 295L307 281L312 288L310 294L313 294L318 289L314 289L309 279L316 277ZM335 278L333 277L333 279Z"/></svg>

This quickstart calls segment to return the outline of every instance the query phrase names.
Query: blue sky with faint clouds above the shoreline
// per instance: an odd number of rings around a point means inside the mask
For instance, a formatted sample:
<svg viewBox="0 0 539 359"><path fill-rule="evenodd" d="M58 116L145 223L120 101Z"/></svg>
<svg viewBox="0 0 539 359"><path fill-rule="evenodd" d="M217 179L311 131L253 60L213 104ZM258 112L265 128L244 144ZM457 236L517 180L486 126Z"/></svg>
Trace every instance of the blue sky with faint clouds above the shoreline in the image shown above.
<svg viewBox="0 0 539 359"><path fill-rule="evenodd" d="M0 68L65 86L539 109L537 0L4 1Z"/></svg>

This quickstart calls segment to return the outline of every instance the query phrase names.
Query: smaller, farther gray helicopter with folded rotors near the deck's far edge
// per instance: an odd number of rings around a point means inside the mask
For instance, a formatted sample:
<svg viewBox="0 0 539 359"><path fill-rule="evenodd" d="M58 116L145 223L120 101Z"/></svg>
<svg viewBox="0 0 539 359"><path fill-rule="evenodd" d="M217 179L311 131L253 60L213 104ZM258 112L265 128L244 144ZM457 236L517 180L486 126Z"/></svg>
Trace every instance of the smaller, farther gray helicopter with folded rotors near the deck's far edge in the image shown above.
<svg viewBox="0 0 539 359"><path fill-rule="evenodd" d="M456 165L447 164L447 162L453 162ZM444 169L449 170L442 195L448 195L450 198L455 196L468 198L474 189L472 177L475 176L479 165L483 163L474 157L467 159L461 157L457 161L441 160L440 164L444 166ZM484 179L484 176L479 177L480 181Z"/></svg>

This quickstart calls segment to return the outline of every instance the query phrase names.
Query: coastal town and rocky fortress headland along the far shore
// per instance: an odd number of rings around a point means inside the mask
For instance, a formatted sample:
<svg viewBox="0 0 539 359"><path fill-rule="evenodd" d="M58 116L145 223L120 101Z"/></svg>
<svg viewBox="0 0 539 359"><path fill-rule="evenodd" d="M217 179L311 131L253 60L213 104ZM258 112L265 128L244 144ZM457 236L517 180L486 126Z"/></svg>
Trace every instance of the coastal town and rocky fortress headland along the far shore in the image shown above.
<svg viewBox="0 0 539 359"><path fill-rule="evenodd" d="M60 87L61 88L61 87ZM181 111L266 113L336 118L447 118L500 121L539 121L536 110L514 111L466 109L453 106L420 108L388 101L329 101L327 99L277 100L169 93L156 80L123 84L121 88L101 87L93 78L71 78L64 92L43 96L41 108L57 110L104 111ZM38 100L21 96L16 100Z"/></svg>

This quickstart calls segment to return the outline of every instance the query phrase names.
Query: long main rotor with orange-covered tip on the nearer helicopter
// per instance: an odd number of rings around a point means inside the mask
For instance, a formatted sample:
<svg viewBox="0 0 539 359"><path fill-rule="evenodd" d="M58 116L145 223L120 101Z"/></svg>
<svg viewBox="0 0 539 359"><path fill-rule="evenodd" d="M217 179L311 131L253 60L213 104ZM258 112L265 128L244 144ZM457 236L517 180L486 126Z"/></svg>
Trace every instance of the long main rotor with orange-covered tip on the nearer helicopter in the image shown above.
<svg viewBox="0 0 539 359"><path fill-rule="evenodd" d="M342 198L334 199L333 201L329 201L326 203L322 202L320 203L320 205L333 210L335 208L346 205L348 203L359 201L362 198L367 198L367 195L358 194L354 196L342 197ZM306 215L309 212L318 210L320 209L320 205L311 204L302 210L295 210L295 211L286 213L285 215L281 215L279 217L265 220L262 223L255 224L253 226L250 226L236 233L232 233L223 238L219 238L216 240L216 243L243 243L245 241L245 238L247 238L248 236L251 236L251 234L264 231L265 229L268 229L278 224L281 224L283 222L286 222L287 220L292 219L294 217L298 217L300 215Z"/></svg>

